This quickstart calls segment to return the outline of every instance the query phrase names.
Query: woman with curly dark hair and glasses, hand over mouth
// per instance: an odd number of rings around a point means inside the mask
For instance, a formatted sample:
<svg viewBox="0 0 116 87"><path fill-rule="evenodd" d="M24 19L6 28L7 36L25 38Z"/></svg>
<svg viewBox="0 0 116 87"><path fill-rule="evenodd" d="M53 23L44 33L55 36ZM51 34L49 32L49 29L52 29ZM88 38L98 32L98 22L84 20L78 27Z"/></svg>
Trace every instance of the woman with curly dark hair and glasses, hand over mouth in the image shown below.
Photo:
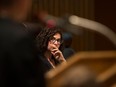
<svg viewBox="0 0 116 87"><path fill-rule="evenodd" d="M45 27L37 38L39 58L43 62L45 71L55 68L57 64L66 62L62 52L62 33L59 28Z"/></svg>

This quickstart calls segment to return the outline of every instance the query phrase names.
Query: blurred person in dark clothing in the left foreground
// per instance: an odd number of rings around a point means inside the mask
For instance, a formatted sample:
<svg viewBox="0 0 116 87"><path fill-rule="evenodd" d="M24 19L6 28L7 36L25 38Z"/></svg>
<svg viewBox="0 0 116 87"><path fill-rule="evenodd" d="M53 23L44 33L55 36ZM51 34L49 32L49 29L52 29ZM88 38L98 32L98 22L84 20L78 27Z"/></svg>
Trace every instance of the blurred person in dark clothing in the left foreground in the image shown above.
<svg viewBox="0 0 116 87"><path fill-rule="evenodd" d="M35 43L22 24L31 3L0 0L0 87L44 87Z"/></svg>

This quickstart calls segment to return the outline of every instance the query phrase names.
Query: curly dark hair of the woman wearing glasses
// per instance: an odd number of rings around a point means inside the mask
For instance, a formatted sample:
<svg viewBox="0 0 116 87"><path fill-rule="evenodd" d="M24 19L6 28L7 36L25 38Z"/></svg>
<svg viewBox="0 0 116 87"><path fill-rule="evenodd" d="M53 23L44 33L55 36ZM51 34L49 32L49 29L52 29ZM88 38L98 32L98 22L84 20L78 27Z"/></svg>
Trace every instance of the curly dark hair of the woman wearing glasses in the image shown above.
<svg viewBox="0 0 116 87"><path fill-rule="evenodd" d="M36 43L37 43L37 48L40 53L45 53L47 50L48 42L50 38L52 38L56 33L59 33L61 35L61 40L62 39L62 31L58 27L44 27L41 29L40 33L36 37ZM61 44L59 47L59 50L62 51L63 45Z"/></svg>

